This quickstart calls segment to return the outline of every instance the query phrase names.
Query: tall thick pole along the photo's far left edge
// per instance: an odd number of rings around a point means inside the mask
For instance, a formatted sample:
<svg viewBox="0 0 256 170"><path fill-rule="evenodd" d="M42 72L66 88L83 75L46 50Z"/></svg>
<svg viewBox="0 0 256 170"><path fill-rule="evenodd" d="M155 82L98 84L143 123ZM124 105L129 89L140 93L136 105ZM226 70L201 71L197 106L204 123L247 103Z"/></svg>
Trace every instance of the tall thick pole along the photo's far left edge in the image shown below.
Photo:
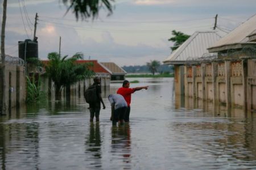
<svg viewBox="0 0 256 170"><path fill-rule="evenodd" d="M0 112L6 114L5 102L5 25L6 25L6 9L7 0L3 0L3 18L2 18L2 31L1 31L1 67L0 67Z"/></svg>

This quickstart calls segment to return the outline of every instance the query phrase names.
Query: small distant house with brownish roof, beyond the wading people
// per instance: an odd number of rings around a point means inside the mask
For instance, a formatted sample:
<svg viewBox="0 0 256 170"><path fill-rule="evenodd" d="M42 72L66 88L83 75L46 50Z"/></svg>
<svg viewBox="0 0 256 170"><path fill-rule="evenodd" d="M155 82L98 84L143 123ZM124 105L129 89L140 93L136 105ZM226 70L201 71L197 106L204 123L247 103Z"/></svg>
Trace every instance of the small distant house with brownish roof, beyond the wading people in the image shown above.
<svg viewBox="0 0 256 170"><path fill-rule="evenodd" d="M111 74L111 80L124 80L126 71L119 67L114 62L101 62L106 70Z"/></svg>

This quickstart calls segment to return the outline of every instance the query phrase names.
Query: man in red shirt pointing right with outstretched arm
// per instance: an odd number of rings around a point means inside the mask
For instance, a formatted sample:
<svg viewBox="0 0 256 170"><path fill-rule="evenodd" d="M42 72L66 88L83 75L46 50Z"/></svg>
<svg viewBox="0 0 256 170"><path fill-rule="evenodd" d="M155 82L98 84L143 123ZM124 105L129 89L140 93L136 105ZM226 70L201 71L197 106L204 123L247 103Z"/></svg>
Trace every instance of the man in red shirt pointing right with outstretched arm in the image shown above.
<svg viewBox="0 0 256 170"><path fill-rule="evenodd" d="M131 104L131 94L133 94L135 91L139 91L142 89L147 90L148 86L143 86L143 87L135 87L135 88L129 88L130 83L128 80L123 81L123 87L118 88L117 94L122 95L125 98L125 101L127 102L127 109L125 113L124 120L125 122L129 122L129 116L130 116L130 104Z"/></svg>

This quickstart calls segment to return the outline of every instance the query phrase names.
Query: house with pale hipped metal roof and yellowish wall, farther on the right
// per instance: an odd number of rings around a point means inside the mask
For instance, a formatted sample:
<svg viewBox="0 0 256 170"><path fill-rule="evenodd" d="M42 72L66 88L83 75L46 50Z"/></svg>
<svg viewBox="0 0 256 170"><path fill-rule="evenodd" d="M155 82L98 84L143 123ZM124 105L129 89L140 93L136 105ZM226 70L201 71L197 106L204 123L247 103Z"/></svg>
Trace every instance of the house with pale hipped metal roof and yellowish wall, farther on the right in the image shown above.
<svg viewBox="0 0 256 170"><path fill-rule="evenodd" d="M199 60L205 58L217 57L216 53L208 53L207 48L220 39L221 36L216 31L197 31L163 61L164 64L174 65L176 95L184 95L185 91L189 92L184 84L187 84L187 81L189 81L187 76L192 74L190 66L192 63L199 62ZM190 95L192 96L192 94Z"/></svg>

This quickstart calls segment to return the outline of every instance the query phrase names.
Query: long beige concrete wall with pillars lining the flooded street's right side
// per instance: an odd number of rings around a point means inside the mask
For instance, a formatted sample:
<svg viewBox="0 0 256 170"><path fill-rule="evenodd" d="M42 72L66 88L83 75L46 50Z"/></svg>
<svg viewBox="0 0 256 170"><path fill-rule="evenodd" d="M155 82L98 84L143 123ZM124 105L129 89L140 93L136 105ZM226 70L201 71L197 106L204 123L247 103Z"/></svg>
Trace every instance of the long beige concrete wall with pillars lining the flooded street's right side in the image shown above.
<svg viewBox="0 0 256 170"><path fill-rule="evenodd" d="M217 59L181 68L175 65L176 95L184 91L187 97L256 111L256 59Z"/></svg>

